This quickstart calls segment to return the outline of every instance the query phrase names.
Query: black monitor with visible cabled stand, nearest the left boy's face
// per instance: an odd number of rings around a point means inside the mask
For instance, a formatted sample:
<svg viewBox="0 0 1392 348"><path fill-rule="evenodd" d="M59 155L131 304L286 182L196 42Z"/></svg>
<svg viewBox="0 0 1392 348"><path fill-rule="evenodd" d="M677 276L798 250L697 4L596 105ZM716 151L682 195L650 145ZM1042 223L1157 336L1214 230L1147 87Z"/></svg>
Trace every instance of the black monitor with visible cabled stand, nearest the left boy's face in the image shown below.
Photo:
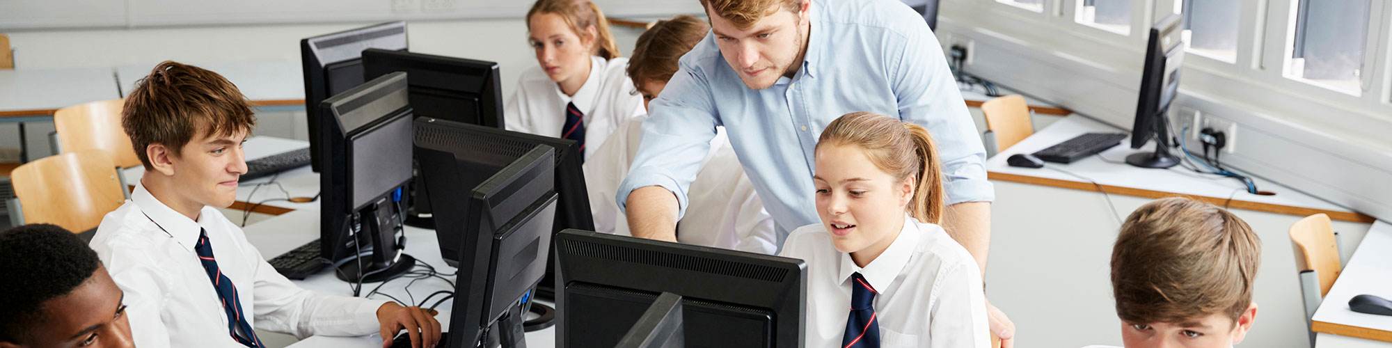
<svg viewBox="0 0 1392 348"><path fill-rule="evenodd" d="M411 181L412 120L406 74L376 78L319 106L320 252L347 281L381 281L411 270L401 252L401 188ZM370 259L362 251L372 249ZM351 259L356 260L351 260ZM344 262L349 259L348 262Z"/></svg>

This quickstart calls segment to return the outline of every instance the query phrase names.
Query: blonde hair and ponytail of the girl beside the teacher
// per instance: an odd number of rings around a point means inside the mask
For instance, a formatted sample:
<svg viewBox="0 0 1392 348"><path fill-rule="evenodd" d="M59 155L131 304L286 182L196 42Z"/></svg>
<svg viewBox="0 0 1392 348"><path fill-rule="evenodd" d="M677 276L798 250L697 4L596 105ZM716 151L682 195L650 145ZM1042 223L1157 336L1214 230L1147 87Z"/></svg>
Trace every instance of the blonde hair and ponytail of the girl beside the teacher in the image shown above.
<svg viewBox="0 0 1392 348"><path fill-rule="evenodd" d="M821 131L817 148L851 145L864 150L870 163L895 180L915 178L913 198L905 209L923 223L942 224L947 195L942 163L928 129L876 113L849 113Z"/></svg>

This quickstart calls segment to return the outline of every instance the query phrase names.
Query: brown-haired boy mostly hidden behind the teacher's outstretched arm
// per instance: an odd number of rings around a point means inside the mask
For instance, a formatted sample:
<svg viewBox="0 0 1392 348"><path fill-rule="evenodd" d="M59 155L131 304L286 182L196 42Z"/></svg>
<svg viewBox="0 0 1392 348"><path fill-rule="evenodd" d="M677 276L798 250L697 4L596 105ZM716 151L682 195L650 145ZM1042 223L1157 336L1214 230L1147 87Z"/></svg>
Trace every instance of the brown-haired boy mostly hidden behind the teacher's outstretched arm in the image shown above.
<svg viewBox="0 0 1392 348"><path fill-rule="evenodd" d="M678 15L658 21L638 36L628 77L643 96L644 107L677 72L677 60L706 38L707 32L710 25L700 18ZM594 231L632 235L628 217L614 203L614 193L638 153L644 120L646 116L639 116L619 124L585 163L585 187L590 196ZM739 166L729 141L715 136L710 155L692 181L690 207L677 226L677 241L773 255L782 246L784 237L786 235L780 235L774 228L773 217L754 193L754 185Z"/></svg>

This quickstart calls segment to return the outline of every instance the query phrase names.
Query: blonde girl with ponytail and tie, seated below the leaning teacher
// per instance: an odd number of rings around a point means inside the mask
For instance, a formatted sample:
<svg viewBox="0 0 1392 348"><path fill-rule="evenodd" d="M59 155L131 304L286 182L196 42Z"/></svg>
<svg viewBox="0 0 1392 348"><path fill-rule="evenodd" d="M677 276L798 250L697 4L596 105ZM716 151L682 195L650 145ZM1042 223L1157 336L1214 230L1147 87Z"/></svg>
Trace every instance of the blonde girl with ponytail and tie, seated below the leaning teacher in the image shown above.
<svg viewBox="0 0 1392 348"><path fill-rule="evenodd" d="M990 347L980 269L940 226L945 182L928 131L851 113L814 156L821 224L795 230L780 253L807 262L807 347Z"/></svg>

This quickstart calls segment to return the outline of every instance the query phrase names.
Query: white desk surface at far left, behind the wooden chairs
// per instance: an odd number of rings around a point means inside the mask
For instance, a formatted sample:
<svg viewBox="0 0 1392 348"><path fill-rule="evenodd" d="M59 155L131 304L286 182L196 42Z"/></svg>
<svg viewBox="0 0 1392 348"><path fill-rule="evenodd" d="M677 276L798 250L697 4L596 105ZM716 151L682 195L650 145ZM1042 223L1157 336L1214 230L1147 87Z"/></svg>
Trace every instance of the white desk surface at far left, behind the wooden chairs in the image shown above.
<svg viewBox="0 0 1392 348"><path fill-rule="evenodd" d="M58 109L121 97L111 68L0 70L0 117L53 116Z"/></svg>

